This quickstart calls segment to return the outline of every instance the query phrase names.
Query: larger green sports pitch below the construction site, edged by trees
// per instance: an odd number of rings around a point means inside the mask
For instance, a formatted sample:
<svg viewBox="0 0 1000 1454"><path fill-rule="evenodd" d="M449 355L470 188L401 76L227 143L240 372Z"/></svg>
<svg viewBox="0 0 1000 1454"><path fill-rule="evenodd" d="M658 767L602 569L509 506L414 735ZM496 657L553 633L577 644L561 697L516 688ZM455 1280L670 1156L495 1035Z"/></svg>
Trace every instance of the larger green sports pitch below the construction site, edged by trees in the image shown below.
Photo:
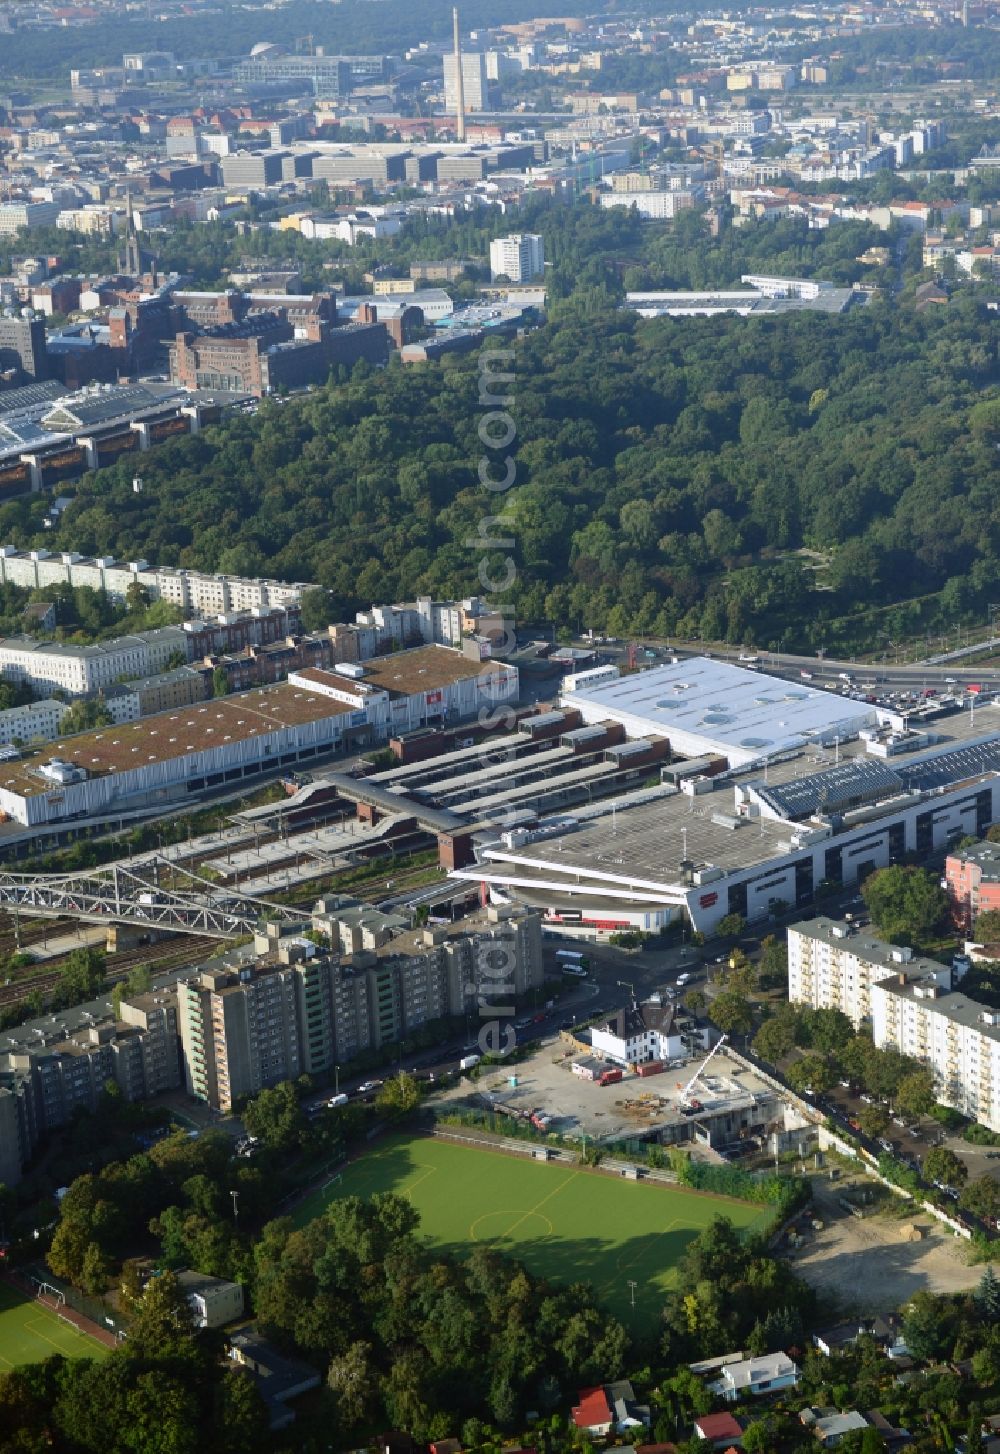
<svg viewBox="0 0 1000 1454"><path fill-rule="evenodd" d="M615 1181L581 1166L532 1162L430 1137L392 1136L312 1192L304 1226L337 1197L394 1191L420 1213L432 1246L461 1256L487 1242L557 1282L592 1282L638 1333L653 1332L683 1249L718 1216L762 1227L772 1208L679 1186ZM632 1290L635 1282L635 1310Z"/></svg>

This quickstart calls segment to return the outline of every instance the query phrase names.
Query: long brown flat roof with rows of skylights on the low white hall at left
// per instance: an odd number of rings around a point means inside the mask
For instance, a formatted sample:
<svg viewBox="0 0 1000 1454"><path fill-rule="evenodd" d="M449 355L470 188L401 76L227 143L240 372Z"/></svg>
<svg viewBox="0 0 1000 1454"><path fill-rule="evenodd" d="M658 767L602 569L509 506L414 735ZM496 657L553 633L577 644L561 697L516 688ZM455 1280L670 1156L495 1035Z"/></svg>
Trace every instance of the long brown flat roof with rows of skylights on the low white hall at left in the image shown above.
<svg viewBox="0 0 1000 1454"><path fill-rule="evenodd" d="M185 758L189 752L221 747L227 742L244 742L282 727L323 721L324 717L337 717L350 710L346 702L337 702L331 696L314 695L281 682L240 692L237 696L156 712L135 723L122 723L121 727L102 727L99 731L64 737L16 762L0 763L0 788L33 797L58 788L57 782L38 775L38 769L48 762L68 762L84 768L87 776L100 778L110 772L144 768L150 762Z"/></svg>

